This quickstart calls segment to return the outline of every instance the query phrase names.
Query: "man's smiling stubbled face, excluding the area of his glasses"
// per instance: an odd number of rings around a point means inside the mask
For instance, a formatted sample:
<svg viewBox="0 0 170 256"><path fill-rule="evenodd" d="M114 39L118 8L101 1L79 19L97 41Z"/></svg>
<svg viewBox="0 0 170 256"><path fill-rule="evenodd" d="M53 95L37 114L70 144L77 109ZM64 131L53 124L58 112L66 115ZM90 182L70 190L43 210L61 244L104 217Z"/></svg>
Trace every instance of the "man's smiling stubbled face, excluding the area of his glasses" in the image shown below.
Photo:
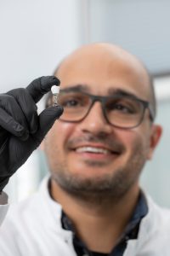
<svg viewBox="0 0 170 256"><path fill-rule="evenodd" d="M108 53L73 56L61 65L57 76L61 89L83 84L86 92L99 96L114 95L121 89L150 101L144 70ZM120 197L137 186L153 149L151 137L148 110L138 127L120 129L107 123L100 103L95 102L80 122L57 120L45 139L45 151L52 177L63 189L80 195Z"/></svg>

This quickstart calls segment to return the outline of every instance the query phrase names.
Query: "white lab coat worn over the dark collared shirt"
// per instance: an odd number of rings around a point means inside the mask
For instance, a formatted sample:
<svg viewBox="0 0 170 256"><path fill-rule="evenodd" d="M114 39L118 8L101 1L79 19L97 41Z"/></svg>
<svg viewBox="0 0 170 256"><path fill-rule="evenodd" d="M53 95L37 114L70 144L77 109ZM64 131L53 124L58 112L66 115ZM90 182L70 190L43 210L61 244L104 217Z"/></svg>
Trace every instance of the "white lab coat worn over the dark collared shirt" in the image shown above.
<svg viewBox="0 0 170 256"><path fill-rule="evenodd" d="M147 201L139 238L128 241L124 256L170 256L170 212L148 196ZM36 195L9 209L0 229L0 256L77 255L60 218L61 206L50 198L46 179Z"/></svg>

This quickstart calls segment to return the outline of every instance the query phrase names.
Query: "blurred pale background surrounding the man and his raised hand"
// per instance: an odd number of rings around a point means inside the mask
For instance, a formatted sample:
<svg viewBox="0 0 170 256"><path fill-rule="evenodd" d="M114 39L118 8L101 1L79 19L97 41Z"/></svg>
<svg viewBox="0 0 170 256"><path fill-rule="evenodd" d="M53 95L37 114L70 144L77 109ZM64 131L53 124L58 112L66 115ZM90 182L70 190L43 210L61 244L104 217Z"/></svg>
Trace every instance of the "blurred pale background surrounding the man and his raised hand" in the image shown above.
<svg viewBox="0 0 170 256"><path fill-rule="evenodd" d="M51 75L59 61L82 44L112 42L144 61L154 76L156 122L163 126L163 136L144 167L141 185L164 207L170 207L169 9L168 0L0 1L0 93ZM9 201L31 195L47 172L37 149L8 183Z"/></svg>

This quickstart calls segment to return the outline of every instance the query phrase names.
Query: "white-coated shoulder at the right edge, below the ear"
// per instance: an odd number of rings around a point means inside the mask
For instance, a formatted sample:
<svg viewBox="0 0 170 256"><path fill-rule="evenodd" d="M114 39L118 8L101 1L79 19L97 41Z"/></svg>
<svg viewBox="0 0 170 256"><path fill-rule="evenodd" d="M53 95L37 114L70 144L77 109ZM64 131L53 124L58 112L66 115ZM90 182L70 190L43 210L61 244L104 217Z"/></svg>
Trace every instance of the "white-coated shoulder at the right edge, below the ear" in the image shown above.
<svg viewBox="0 0 170 256"><path fill-rule="evenodd" d="M148 213L141 220L138 239L133 245L135 252L170 255L170 210L158 206L149 195L146 195L146 201Z"/></svg>

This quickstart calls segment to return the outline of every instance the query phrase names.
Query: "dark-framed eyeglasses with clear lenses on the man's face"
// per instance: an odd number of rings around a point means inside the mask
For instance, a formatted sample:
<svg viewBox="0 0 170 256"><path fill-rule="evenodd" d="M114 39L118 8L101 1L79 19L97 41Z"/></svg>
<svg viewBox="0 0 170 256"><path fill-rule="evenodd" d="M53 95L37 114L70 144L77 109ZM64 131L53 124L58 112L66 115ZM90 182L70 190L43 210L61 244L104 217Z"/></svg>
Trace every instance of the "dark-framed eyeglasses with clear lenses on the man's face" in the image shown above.
<svg viewBox="0 0 170 256"><path fill-rule="evenodd" d="M118 128L131 129L140 125L146 108L149 109L150 120L154 120L150 103L131 95L96 96L68 88L60 90L58 102L64 108L59 120L66 122L80 122L85 119L94 102L101 103L107 122Z"/></svg>

